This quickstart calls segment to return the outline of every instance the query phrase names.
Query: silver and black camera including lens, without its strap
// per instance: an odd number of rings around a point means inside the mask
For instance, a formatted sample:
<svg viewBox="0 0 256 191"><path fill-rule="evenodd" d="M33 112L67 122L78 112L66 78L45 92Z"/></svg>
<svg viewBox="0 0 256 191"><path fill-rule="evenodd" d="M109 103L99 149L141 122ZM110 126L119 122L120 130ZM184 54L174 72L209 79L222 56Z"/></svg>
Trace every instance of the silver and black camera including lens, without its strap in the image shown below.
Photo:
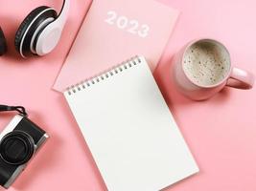
<svg viewBox="0 0 256 191"><path fill-rule="evenodd" d="M13 117L0 134L0 185L12 185L47 138L28 117Z"/></svg>

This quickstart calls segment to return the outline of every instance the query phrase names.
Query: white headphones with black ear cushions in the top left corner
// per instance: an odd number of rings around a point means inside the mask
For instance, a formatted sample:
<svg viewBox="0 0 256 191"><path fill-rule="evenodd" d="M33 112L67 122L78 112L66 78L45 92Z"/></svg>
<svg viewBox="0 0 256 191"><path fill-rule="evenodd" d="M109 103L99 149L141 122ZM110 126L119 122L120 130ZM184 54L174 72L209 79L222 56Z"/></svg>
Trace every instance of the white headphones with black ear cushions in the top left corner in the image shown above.
<svg viewBox="0 0 256 191"><path fill-rule="evenodd" d="M31 11L20 24L15 34L14 44L16 51L22 57L27 57L30 54L41 56L51 53L58 45L61 32L67 20L69 7L70 0L63 0L59 14L53 8L46 6L41 6ZM3 32L0 33L3 35ZM2 39L5 39L5 37L2 36ZM6 42L2 41L2 46L6 46Z"/></svg>

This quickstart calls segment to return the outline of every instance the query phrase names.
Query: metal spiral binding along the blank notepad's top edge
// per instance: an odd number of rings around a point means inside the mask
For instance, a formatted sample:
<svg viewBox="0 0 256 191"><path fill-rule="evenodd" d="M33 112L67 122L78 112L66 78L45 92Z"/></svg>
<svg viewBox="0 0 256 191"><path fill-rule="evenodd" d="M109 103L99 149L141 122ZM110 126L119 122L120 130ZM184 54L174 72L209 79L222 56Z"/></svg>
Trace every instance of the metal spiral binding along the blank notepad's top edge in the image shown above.
<svg viewBox="0 0 256 191"><path fill-rule="evenodd" d="M67 88L66 91L68 95L71 96L80 92L81 90L89 88L96 83L100 83L101 81L104 81L115 74L120 74L128 70L129 68L136 66L139 63L141 63L141 59L139 56L136 55L128 59L127 61L122 62L121 64L111 68L110 70L105 71L104 73L97 74L89 79L83 80L80 83Z"/></svg>

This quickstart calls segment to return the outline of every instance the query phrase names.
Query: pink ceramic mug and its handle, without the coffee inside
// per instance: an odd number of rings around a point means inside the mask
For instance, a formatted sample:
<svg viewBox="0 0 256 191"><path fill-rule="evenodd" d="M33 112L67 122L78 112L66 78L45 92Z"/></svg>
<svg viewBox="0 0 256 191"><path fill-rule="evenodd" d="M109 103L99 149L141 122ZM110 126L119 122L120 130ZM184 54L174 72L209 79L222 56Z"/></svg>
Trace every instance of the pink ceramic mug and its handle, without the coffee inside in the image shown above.
<svg viewBox="0 0 256 191"><path fill-rule="evenodd" d="M193 46L200 45L203 45L204 47L214 46L215 49L217 49L221 53L221 55L225 56L226 58L224 64L226 67L226 73L222 74L221 80L217 81L216 83L212 83L209 85L198 84L197 81L191 78L191 75L189 75L188 72L185 72L185 57L188 56L188 54L186 53L191 51ZM198 57L199 56L201 55L198 53ZM247 90L251 89L254 83L253 74L233 67L231 64L230 54L227 49L220 42L213 39L194 40L184 46L181 51L175 54L171 72L172 76L174 77L175 86L177 87L178 91L181 92L184 96L187 96L194 100L203 100L214 96L215 94L220 92L225 86Z"/></svg>

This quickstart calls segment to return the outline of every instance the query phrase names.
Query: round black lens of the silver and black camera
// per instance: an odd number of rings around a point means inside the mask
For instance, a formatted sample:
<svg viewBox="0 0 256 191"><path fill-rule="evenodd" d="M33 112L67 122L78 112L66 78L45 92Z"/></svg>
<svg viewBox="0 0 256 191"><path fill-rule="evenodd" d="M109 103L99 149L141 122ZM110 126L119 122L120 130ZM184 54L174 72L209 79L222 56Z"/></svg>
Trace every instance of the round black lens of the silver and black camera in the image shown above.
<svg viewBox="0 0 256 191"><path fill-rule="evenodd" d="M35 151L34 145L34 139L30 135L21 131L13 131L2 138L0 156L10 164L24 164L32 158Z"/></svg>

